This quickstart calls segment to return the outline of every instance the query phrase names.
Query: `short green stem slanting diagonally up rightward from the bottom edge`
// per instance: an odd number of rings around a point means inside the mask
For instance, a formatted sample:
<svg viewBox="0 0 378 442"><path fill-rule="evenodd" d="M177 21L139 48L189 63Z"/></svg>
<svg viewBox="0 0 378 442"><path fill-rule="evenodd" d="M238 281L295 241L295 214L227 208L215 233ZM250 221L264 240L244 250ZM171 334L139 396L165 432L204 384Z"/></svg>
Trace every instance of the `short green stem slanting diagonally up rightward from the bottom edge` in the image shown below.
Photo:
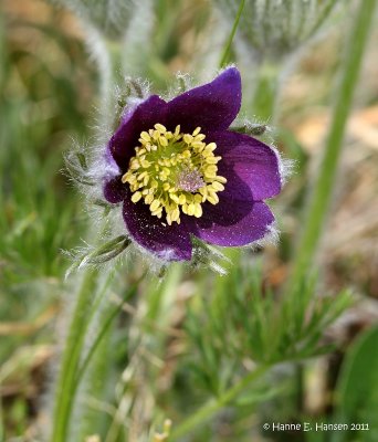
<svg viewBox="0 0 378 442"><path fill-rule="evenodd" d="M217 412L219 412L223 407L232 402L242 391L244 391L251 383L256 379L261 378L270 366L260 366L255 370L248 373L243 379L241 379L237 385L227 390L219 398L213 399L196 411L189 419L183 421L180 425L172 430L169 442L177 441L179 438L188 434L198 425L204 423L210 418L212 418Z"/></svg>

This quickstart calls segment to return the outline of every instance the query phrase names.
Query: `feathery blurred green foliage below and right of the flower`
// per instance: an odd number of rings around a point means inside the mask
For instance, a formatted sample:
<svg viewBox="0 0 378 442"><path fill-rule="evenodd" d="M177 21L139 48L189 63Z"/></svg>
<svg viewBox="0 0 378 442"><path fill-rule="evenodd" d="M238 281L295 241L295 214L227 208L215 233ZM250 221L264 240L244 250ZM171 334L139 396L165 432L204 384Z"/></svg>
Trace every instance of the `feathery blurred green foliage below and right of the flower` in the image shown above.
<svg viewBox="0 0 378 442"><path fill-rule="evenodd" d="M287 296L264 288L259 267L233 269L211 296L196 297L186 328L197 359L190 365L214 394L230 385L242 361L276 365L330 351L324 330L350 306L347 291L319 296L316 280L303 281Z"/></svg>

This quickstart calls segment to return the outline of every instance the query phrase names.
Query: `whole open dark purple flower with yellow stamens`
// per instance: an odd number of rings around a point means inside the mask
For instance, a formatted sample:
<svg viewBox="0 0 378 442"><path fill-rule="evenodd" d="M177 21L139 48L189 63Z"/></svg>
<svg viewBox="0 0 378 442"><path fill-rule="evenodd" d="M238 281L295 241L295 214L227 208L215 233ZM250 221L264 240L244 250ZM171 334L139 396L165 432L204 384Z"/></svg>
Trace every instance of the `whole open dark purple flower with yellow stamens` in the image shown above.
<svg viewBox="0 0 378 442"><path fill-rule="evenodd" d="M241 105L235 67L170 102L151 95L124 115L107 146L104 196L123 203L129 236L166 261L189 261L191 235L221 246L261 240L281 191L280 158L229 130Z"/></svg>

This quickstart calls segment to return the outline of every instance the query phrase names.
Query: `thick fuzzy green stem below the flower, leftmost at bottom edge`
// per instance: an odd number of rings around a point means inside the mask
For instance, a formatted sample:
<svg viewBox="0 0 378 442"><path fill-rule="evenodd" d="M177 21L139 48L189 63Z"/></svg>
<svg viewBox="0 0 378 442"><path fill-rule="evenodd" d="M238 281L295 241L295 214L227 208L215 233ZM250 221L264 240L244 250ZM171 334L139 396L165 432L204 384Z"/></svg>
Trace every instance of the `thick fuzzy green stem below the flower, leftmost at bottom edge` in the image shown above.
<svg viewBox="0 0 378 442"><path fill-rule="evenodd" d="M88 306L96 287L98 272L88 269L83 276L76 305L63 349L62 365L55 393L55 412L51 442L66 442L72 407L75 398L75 378L86 329Z"/></svg>

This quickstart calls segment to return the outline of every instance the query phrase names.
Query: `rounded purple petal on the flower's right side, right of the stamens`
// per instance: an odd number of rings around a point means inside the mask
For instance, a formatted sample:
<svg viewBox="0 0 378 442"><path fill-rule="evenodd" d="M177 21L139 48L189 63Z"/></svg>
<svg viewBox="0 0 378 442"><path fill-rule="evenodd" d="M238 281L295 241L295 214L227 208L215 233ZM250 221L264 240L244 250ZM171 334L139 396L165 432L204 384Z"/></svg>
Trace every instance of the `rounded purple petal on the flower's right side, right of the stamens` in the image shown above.
<svg viewBox="0 0 378 442"><path fill-rule="evenodd" d="M248 135L225 130L208 134L207 141L217 143L216 155L222 157L218 173L229 178L230 170L233 170L251 189L255 201L280 193L279 158L267 145ZM230 186L232 182L225 188Z"/></svg>

